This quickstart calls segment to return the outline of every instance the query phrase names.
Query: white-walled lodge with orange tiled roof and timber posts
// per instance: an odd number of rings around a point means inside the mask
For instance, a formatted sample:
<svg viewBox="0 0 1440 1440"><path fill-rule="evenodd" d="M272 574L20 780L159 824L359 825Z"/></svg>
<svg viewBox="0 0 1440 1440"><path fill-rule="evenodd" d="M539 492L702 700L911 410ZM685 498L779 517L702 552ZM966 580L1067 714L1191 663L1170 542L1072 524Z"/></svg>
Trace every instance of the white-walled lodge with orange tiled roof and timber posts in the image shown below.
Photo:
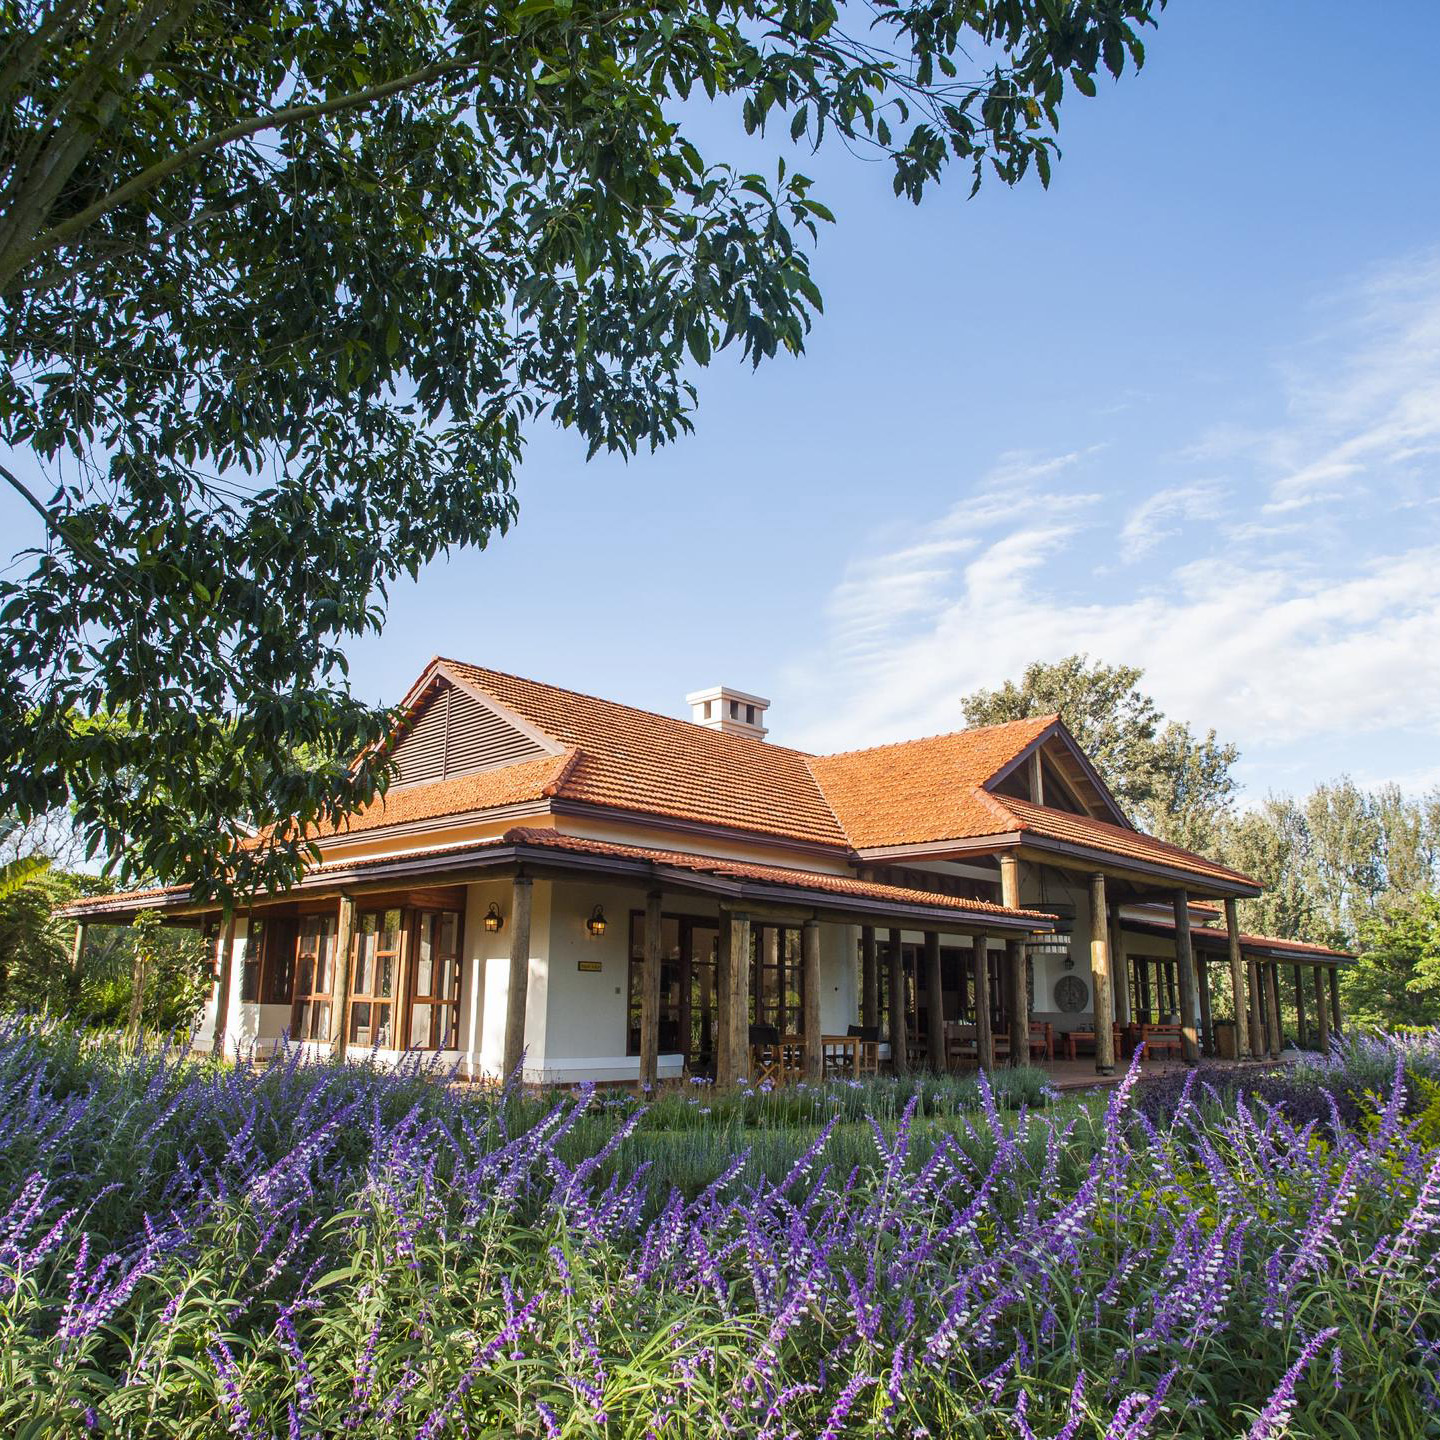
<svg viewBox="0 0 1440 1440"><path fill-rule="evenodd" d="M419 1048L477 1077L523 1056L534 1081L733 1083L783 1037L819 1074L847 1034L899 1070L1047 1041L1109 1070L1152 1022L1233 1051L1212 992L1244 996L1240 1054L1277 1054L1280 965L1302 1030L1338 1028L1346 956L1241 935L1256 883L1136 831L1057 717L815 756L765 740L757 696L687 700L435 660L389 792L294 890L223 933L181 887L65 913L78 943L147 907L215 935L202 1048Z"/></svg>

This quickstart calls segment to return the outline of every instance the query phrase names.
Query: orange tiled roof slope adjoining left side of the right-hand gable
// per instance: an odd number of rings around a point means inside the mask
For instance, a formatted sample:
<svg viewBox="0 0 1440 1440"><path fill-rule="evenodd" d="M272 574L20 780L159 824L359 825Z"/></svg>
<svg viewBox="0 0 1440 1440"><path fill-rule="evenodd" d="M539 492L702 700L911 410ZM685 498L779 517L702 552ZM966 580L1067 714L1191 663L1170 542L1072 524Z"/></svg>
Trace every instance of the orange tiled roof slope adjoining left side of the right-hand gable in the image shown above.
<svg viewBox="0 0 1440 1440"><path fill-rule="evenodd" d="M912 845L1014 829L981 786L1056 716L956 730L809 762L851 845Z"/></svg>

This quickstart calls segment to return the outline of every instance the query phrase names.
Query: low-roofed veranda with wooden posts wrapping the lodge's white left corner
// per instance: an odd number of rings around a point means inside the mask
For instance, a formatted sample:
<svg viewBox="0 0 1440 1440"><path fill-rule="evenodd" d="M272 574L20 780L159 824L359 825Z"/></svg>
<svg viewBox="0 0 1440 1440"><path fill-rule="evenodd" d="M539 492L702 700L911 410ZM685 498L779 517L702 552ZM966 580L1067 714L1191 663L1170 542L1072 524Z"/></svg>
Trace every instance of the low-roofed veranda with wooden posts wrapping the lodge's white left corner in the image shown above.
<svg viewBox="0 0 1440 1440"><path fill-rule="evenodd" d="M1038 912L854 874L540 828L331 861L229 914L183 890L104 897L69 909L78 946L86 926L141 909L213 936L202 1047L433 1050L477 1079L641 1086L753 1079L770 1032L809 1079L827 1054L854 1066L863 1045L901 1073L945 1054L956 1037L943 1014L924 1041L896 1022L909 1009L903 936L930 973L942 948L969 956L973 1061L1007 1043L1022 1061L1028 1028L996 1047L991 994L999 1014L1027 1014L1027 943L1051 929Z"/></svg>

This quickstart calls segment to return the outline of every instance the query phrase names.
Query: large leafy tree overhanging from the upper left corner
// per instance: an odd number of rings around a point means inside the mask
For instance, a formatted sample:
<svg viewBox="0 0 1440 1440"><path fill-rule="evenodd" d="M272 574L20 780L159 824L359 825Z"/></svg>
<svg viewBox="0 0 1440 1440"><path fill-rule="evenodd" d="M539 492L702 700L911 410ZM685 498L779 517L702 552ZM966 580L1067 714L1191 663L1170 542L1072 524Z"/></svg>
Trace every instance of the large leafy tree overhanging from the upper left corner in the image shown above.
<svg viewBox="0 0 1440 1440"><path fill-rule="evenodd" d="M73 805L125 874L291 878L384 778L346 641L511 523L527 425L660 445L687 364L802 347L828 212L681 102L912 200L1044 181L1067 81L1162 4L0 0L0 477L46 536L0 585L0 808Z"/></svg>

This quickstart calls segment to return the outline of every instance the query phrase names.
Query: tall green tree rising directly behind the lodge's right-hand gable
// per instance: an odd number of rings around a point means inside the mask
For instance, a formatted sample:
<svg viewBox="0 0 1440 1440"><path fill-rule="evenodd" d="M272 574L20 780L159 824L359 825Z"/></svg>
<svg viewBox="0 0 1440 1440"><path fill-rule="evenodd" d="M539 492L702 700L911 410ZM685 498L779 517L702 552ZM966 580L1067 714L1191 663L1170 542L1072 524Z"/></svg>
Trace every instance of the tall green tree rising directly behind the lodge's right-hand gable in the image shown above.
<svg viewBox="0 0 1440 1440"><path fill-rule="evenodd" d="M1089 655L1035 661L1018 681L965 696L969 724L999 724L1057 713L1100 769L1116 799L1152 834L1210 850L1234 806L1231 773L1240 752L1215 732L1195 734L1166 720L1140 690L1138 665Z"/></svg>

